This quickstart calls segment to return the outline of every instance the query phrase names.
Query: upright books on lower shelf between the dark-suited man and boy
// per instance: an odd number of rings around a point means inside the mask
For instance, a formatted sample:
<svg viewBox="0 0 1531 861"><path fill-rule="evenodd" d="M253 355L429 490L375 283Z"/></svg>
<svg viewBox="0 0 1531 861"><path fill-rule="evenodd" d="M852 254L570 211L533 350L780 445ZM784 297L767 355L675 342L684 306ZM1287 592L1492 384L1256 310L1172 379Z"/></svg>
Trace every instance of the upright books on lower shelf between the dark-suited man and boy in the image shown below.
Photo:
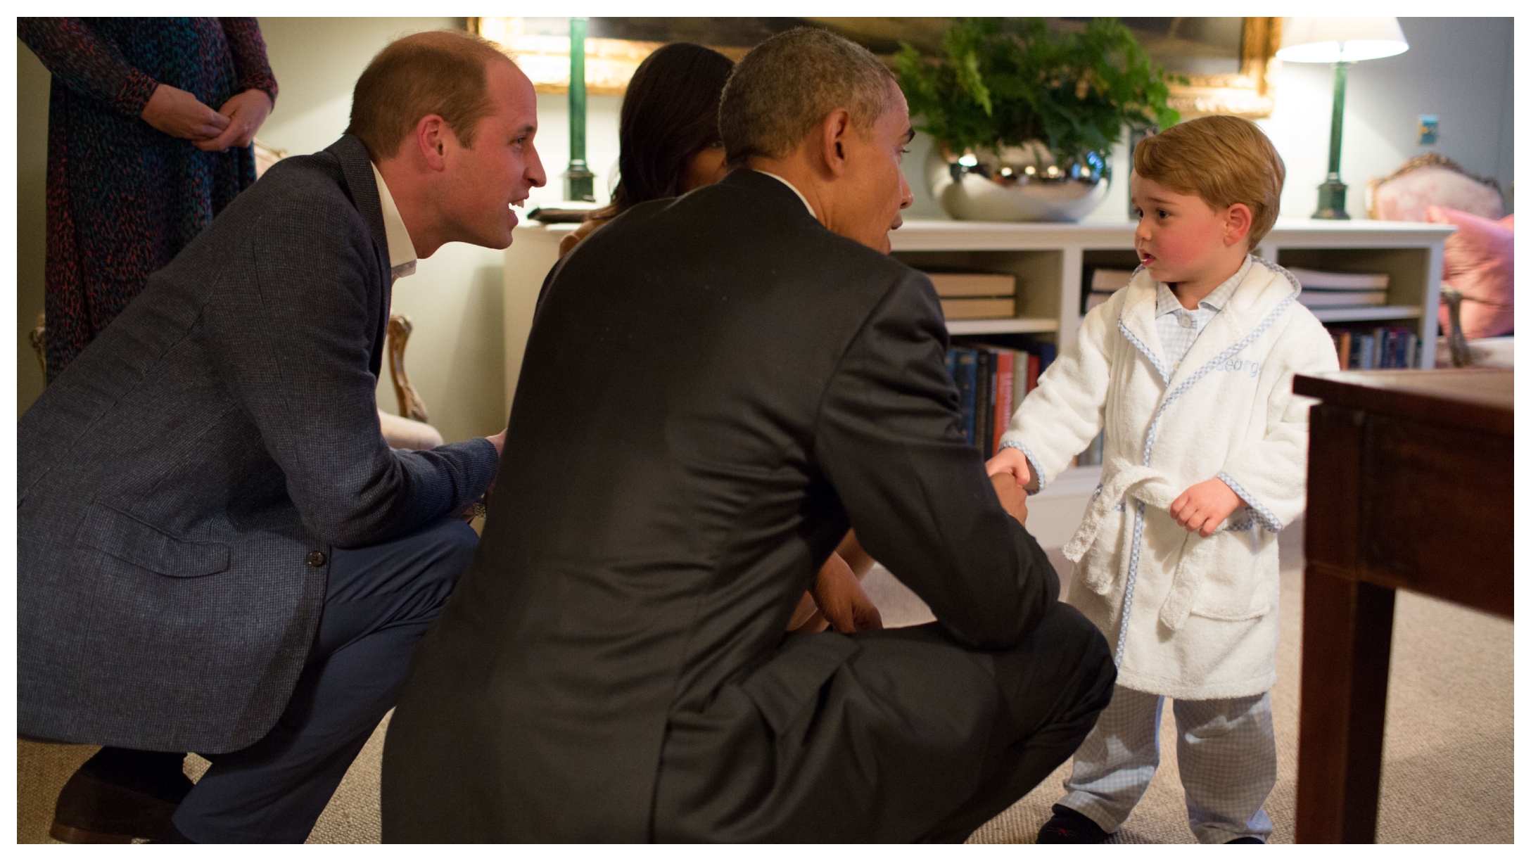
<svg viewBox="0 0 1531 861"><path fill-rule="evenodd" d="M1032 339L1018 343L1023 349L972 343L946 351L946 371L961 400L963 434L984 458L995 455L1010 415L1058 355L1053 343Z"/></svg>

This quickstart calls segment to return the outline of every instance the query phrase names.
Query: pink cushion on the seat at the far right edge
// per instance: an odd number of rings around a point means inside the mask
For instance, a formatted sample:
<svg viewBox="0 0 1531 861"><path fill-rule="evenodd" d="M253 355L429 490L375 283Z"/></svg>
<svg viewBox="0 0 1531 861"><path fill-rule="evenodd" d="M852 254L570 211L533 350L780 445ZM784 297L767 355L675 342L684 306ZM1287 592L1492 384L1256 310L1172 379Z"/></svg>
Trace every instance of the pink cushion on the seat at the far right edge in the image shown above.
<svg viewBox="0 0 1531 861"><path fill-rule="evenodd" d="M1462 291L1462 334L1485 339L1516 329L1516 222L1514 216L1490 221L1445 207L1427 207L1435 224L1454 224L1445 239L1445 271L1441 286ZM1441 303L1441 326L1450 314Z"/></svg>

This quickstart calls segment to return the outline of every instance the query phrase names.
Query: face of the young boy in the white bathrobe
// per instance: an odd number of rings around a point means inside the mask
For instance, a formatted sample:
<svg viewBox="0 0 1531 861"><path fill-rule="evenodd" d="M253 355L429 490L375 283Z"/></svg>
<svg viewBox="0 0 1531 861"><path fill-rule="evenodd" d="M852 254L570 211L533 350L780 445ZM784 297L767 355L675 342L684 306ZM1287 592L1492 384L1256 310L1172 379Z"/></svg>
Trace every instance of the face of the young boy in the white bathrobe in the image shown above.
<svg viewBox="0 0 1531 861"><path fill-rule="evenodd" d="M1138 216L1133 247L1154 280L1196 283L1243 262L1251 222L1245 204L1214 210L1196 195L1171 192L1136 173L1131 195Z"/></svg>

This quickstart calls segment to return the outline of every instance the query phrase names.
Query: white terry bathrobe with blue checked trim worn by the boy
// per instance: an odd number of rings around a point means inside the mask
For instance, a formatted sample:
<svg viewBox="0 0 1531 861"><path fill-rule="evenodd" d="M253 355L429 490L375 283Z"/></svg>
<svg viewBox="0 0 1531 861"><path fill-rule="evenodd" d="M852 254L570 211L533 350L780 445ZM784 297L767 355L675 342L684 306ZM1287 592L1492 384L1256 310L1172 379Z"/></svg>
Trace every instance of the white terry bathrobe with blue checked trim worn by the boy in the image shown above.
<svg viewBox="0 0 1531 861"><path fill-rule="evenodd" d="M1139 268L1090 311L1001 437L1044 489L1105 430L1101 486L1064 555L1078 562L1069 602L1112 640L1122 686L1209 700L1275 683L1275 533L1306 503L1314 403L1292 394L1292 374L1338 369L1300 290L1254 257L1171 371L1157 285ZM1248 507L1202 538L1174 522L1170 504L1214 476Z"/></svg>

